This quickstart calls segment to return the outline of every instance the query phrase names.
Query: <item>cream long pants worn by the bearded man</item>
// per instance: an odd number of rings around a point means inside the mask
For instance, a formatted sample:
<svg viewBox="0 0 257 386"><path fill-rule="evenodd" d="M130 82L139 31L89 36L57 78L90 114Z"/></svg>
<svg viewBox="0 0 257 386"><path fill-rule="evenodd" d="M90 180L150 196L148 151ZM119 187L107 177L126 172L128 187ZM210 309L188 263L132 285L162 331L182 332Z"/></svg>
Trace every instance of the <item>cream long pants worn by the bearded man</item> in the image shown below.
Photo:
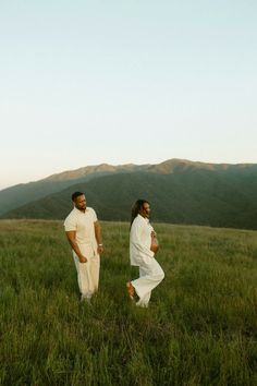
<svg viewBox="0 0 257 386"><path fill-rule="evenodd" d="M98 254L85 253L87 257L86 263L81 263L75 253L73 253L78 288L83 298L90 299L93 293L98 290L99 284L99 270L100 270L100 257Z"/></svg>

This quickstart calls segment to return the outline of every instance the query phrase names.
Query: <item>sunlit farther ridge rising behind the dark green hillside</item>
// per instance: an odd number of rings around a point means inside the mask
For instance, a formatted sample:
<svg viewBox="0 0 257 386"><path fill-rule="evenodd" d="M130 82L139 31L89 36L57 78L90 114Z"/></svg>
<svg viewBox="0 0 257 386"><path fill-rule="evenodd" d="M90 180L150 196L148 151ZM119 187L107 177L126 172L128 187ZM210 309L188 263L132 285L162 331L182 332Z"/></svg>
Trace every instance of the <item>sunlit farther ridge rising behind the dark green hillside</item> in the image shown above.
<svg viewBox="0 0 257 386"><path fill-rule="evenodd" d="M96 166L86 166L75 170L66 170L61 173L49 176L39 181L17 184L0 191L0 215L19 208L20 206L33 201L48 196L49 194L60 192L68 186L89 181L90 179L102 176L110 176L121 172L155 172L173 173L185 170L233 170L237 168L253 168L250 165L228 165L228 164L204 164L193 162L186 159L169 159L157 165L118 165L100 164Z"/></svg>

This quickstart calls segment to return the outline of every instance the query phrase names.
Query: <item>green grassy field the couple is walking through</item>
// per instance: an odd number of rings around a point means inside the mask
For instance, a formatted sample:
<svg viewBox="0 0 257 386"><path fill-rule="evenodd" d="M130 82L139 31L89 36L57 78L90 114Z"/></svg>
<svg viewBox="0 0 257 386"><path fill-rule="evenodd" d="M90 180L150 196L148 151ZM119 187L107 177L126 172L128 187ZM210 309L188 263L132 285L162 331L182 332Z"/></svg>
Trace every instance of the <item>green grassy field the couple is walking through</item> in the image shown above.
<svg viewBox="0 0 257 386"><path fill-rule="evenodd" d="M257 385L257 232L155 228L166 278L137 309L127 224L102 222L88 305L61 221L0 221L0 385Z"/></svg>

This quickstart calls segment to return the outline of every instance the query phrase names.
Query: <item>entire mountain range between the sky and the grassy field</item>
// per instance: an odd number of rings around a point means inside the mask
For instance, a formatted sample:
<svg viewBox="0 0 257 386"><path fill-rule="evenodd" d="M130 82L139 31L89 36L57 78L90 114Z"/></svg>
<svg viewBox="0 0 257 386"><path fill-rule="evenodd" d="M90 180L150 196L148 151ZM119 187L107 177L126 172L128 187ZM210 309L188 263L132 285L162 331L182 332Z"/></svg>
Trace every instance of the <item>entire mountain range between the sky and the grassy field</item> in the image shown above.
<svg viewBox="0 0 257 386"><path fill-rule="evenodd" d="M71 194L85 192L99 219L130 221L146 198L152 221L257 229L257 165L170 159L157 165L101 164L0 191L0 218L63 219Z"/></svg>

